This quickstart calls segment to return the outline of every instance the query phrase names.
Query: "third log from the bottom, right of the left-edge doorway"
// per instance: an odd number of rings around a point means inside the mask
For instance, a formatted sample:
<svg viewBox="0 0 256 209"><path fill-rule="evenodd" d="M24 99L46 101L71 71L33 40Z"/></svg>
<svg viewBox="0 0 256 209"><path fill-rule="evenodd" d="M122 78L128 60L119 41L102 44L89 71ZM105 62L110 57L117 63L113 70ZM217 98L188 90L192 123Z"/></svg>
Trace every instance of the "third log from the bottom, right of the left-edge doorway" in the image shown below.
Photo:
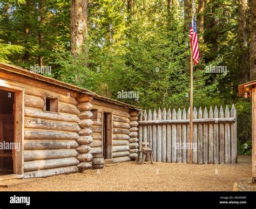
<svg viewBox="0 0 256 209"><path fill-rule="evenodd" d="M75 149L24 150L24 161L36 161L38 159L57 159L77 156L78 153Z"/></svg>

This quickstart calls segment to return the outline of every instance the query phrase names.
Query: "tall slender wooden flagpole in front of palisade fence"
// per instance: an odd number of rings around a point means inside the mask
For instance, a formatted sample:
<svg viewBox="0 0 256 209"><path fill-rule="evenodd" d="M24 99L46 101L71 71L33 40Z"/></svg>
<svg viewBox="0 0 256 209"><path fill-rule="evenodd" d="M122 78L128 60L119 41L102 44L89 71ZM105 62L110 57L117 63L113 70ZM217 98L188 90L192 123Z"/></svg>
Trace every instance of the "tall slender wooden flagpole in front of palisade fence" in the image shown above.
<svg viewBox="0 0 256 209"><path fill-rule="evenodd" d="M192 0L192 28L194 35L194 0ZM193 42L191 43L193 44ZM191 47L191 55L190 55L190 164L193 161L193 152L192 152L192 142L193 142L193 50Z"/></svg>

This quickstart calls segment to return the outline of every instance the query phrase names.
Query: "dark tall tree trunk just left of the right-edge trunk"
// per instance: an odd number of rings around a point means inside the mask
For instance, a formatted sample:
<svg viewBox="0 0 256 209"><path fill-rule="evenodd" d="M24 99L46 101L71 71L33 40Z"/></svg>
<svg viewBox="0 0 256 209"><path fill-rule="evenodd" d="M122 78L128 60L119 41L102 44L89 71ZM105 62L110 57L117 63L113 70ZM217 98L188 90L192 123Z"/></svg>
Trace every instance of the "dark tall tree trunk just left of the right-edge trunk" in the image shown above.
<svg viewBox="0 0 256 209"><path fill-rule="evenodd" d="M240 72L239 83L246 83L250 76L250 62L248 50L248 0L238 1L238 69Z"/></svg>

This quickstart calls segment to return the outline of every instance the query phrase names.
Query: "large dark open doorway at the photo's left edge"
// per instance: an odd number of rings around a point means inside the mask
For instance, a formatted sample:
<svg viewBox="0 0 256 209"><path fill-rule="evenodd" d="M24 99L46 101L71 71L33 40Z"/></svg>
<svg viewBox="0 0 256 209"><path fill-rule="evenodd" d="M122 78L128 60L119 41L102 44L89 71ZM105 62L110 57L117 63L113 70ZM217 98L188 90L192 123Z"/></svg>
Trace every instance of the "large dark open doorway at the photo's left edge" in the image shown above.
<svg viewBox="0 0 256 209"><path fill-rule="evenodd" d="M0 89L0 175L14 173L15 93Z"/></svg>

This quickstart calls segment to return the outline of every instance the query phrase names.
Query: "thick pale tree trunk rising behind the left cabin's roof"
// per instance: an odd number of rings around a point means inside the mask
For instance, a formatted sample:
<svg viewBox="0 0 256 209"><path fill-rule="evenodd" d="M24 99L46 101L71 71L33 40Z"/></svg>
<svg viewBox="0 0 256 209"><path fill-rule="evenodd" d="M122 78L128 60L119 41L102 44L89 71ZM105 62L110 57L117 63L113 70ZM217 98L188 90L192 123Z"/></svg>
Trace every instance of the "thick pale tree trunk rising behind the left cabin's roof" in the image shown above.
<svg viewBox="0 0 256 209"><path fill-rule="evenodd" d="M71 52L73 57L84 52L83 44L88 34L87 30L88 0L71 0L70 27L71 27Z"/></svg>

